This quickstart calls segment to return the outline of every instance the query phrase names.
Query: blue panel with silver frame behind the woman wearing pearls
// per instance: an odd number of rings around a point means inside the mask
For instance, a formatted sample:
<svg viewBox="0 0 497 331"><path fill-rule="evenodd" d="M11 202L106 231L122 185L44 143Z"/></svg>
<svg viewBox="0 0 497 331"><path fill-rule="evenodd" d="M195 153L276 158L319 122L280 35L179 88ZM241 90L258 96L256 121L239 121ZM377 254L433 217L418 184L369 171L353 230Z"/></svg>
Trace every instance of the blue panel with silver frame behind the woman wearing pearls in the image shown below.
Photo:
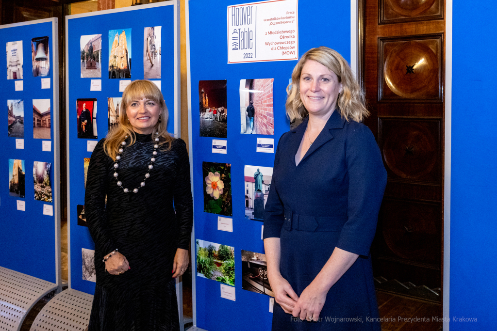
<svg viewBox="0 0 497 331"><path fill-rule="evenodd" d="M144 79L145 65L148 59L145 56L144 31L148 27L161 26L160 38L162 47L157 50L157 57L160 57L160 78L150 78L161 83L162 93L169 111L169 121L167 130L174 132L174 121L177 117L177 94L175 94L175 76L178 75L178 59L176 50L179 29L175 29L177 20L175 15L179 11L177 1L167 1L151 5L129 7L123 9L112 9L99 11L97 13L68 16L66 20L67 36L67 157L68 157L68 219L70 222L70 287L89 294L93 294L95 283L83 279L83 258L82 249L93 250L94 244L89 235L88 228L78 225L78 205L84 204L84 158L90 158L91 151L87 150L87 143L90 140L96 142L105 138L108 131L108 98L120 98L120 82L123 80ZM109 53L115 38L115 34L121 36L125 32L127 50L119 49L119 56L129 57L129 67L131 78L109 78L109 67L111 59ZM157 33L159 34L159 33ZM100 66L101 77L82 77L82 36L101 35L101 48L95 43L93 54L100 56L97 64ZM159 36L156 36L156 38ZM85 37L83 37L85 38ZM88 39L90 40L90 39ZM92 38L91 40L96 40ZM109 42L110 40L110 42ZM146 40L146 39L145 39ZM91 44L93 47L93 44ZM124 45L124 44L119 44ZM87 51L87 50L86 50ZM98 51L100 54L98 54ZM114 54L114 53L113 53ZM157 59L155 65L157 66ZM118 64L118 66L120 66ZM94 70L96 71L96 70ZM119 76L119 74L117 74ZM91 91L91 80L101 80L101 90ZM179 85L179 81L177 81ZM78 113L77 100L96 100L96 138L78 138ZM87 107L87 106L86 106ZM97 258L97 257L95 257Z"/></svg>

